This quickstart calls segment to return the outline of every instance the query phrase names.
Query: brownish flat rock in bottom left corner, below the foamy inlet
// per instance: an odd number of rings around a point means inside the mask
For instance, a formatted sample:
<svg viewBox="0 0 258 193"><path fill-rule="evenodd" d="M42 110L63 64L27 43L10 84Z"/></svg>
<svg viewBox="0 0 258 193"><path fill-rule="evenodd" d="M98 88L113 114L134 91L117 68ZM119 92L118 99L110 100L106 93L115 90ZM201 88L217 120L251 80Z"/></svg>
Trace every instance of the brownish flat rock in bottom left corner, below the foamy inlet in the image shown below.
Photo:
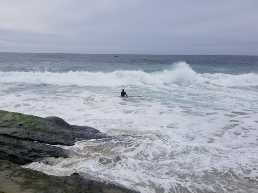
<svg viewBox="0 0 258 193"><path fill-rule="evenodd" d="M135 191L79 175L53 176L0 160L0 192L136 193Z"/></svg>

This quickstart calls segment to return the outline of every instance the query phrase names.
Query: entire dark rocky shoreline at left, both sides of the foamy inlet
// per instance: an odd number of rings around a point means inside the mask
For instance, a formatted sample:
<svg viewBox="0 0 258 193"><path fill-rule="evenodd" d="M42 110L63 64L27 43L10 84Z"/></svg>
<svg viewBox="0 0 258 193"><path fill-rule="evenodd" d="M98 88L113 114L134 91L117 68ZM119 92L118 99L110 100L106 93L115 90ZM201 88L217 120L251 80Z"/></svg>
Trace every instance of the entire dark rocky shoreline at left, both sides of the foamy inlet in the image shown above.
<svg viewBox="0 0 258 193"><path fill-rule="evenodd" d="M21 167L44 157L69 156L69 151L52 145L71 146L77 141L103 138L110 136L91 127L70 125L58 117L41 118L0 110L0 193L135 192L85 179L78 173L53 176Z"/></svg>

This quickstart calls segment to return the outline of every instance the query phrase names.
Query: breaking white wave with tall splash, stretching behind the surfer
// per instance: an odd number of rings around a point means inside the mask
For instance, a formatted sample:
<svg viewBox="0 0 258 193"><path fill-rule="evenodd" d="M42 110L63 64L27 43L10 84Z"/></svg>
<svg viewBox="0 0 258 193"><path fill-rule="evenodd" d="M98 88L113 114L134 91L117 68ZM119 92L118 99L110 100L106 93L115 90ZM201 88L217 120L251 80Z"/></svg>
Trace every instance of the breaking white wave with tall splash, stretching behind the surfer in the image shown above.
<svg viewBox="0 0 258 193"><path fill-rule="evenodd" d="M218 86L258 86L258 74L223 74L196 73L185 62L172 65L171 69L146 73L143 71L116 70L103 72L0 72L0 83L32 83L52 84L59 86L121 86L130 82L131 85L170 84L177 82L209 83Z"/></svg>

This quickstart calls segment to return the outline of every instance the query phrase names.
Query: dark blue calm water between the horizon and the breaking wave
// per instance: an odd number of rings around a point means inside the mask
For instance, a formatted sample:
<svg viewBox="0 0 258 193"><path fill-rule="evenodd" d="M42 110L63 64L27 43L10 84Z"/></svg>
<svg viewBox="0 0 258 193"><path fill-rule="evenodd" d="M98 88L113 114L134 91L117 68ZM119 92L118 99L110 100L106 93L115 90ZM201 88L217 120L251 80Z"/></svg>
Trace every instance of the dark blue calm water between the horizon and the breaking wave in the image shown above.
<svg viewBox="0 0 258 193"><path fill-rule="evenodd" d="M197 73L243 74L258 72L258 56L211 55L119 55L0 53L1 71L112 72L114 70L143 70L154 72L185 61Z"/></svg>

